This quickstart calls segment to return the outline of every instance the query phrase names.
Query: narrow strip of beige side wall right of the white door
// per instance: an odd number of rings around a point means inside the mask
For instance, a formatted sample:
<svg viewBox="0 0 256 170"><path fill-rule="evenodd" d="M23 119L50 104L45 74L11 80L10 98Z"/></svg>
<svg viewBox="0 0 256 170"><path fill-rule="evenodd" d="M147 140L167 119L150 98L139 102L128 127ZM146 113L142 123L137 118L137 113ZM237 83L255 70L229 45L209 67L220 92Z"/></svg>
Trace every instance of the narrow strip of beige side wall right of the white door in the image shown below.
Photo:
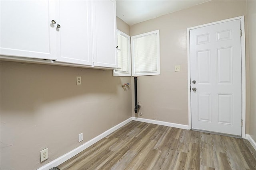
<svg viewBox="0 0 256 170"><path fill-rule="evenodd" d="M250 55L250 136L256 141L256 1L247 1Z"/></svg>

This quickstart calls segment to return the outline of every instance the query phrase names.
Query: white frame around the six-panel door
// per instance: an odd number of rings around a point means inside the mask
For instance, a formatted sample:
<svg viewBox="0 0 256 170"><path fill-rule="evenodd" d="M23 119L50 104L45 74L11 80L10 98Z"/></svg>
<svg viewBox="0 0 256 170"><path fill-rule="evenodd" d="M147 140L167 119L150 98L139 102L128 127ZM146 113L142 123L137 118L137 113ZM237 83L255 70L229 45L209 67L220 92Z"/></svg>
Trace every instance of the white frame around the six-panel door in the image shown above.
<svg viewBox="0 0 256 170"><path fill-rule="evenodd" d="M230 18L227 20L216 21L212 23L206 23L203 25L198 25L195 27L187 28L187 53L188 53L188 129L192 129L191 124L191 95L190 95L190 30L200 27L205 27L209 25L214 25L217 23L223 23L228 21L240 20L242 37L241 37L241 58L242 58L242 138L245 139L245 130L246 130L246 60L245 60L245 32L244 32L244 16L239 16L235 18Z"/></svg>

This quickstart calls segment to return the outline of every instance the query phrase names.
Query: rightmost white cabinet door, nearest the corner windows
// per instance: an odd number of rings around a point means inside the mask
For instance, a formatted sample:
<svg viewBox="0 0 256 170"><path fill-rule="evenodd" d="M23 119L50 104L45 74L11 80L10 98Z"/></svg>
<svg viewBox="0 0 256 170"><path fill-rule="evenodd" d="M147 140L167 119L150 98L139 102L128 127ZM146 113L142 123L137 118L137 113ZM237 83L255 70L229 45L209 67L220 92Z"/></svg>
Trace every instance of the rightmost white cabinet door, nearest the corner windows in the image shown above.
<svg viewBox="0 0 256 170"><path fill-rule="evenodd" d="M116 68L116 2L95 0L92 11L94 66Z"/></svg>

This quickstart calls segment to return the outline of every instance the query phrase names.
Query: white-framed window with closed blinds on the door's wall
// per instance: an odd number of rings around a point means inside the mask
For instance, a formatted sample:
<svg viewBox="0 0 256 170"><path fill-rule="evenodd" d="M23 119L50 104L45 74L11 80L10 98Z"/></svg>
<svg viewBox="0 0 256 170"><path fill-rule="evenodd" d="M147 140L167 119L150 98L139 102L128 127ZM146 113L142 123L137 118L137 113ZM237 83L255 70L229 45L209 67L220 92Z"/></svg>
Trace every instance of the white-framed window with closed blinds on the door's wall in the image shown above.
<svg viewBox="0 0 256 170"><path fill-rule="evenodd" d="M159 30L135 35L132 40L132 76L160 75Z"/></svg>

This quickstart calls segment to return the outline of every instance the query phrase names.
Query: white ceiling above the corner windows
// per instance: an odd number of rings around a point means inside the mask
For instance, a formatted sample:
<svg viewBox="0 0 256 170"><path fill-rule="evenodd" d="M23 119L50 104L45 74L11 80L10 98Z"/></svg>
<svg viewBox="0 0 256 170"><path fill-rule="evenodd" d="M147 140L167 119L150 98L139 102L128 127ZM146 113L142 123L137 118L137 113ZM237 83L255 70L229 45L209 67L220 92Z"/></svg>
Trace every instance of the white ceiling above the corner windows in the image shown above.
<svg viewBox="0 0 256 170"><path fill-rule="evenodd" d="M116 16L128 25L190 8L209 0L117 0Z"/></svg>

